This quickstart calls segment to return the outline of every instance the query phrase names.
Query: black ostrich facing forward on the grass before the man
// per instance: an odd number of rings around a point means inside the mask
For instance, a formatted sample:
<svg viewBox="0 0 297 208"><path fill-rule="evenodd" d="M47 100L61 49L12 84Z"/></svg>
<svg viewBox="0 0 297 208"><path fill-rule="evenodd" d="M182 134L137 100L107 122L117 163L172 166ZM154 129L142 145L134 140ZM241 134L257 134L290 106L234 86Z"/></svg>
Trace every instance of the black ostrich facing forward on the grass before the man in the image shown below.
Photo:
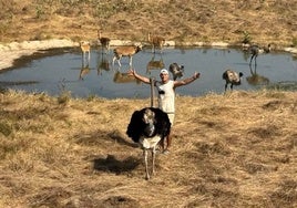
<svg viewBox="0 0 297 208"><path fill-rule="evenodd" d="M155 153L158 142L163 142L171 131L171 122L166 113L160 108L145 107L135 111L126 129L126 134L143 148L146 179L150 179L147 154L152 150L152 175L155 169Z"/></svg>

